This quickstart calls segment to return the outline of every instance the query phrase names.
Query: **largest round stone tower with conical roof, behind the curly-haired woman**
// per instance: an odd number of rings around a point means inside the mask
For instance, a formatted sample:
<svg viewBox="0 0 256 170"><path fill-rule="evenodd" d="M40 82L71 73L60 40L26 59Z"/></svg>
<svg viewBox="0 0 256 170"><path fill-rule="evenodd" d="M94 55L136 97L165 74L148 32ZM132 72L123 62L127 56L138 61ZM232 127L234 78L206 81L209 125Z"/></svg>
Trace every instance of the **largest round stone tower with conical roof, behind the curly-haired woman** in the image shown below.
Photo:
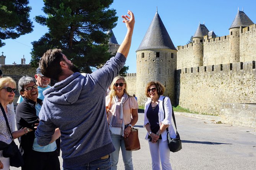
<svg viewBox="0 0 256 170"><path fill-rule="evenodd" d="M150 81L159 81L165 88L165 96L175 101L174 73L177 68L177 50L161 21L155 14L145 37L136 50L137 89L139 105L145 104L147 97L145 87Z"/></svg>

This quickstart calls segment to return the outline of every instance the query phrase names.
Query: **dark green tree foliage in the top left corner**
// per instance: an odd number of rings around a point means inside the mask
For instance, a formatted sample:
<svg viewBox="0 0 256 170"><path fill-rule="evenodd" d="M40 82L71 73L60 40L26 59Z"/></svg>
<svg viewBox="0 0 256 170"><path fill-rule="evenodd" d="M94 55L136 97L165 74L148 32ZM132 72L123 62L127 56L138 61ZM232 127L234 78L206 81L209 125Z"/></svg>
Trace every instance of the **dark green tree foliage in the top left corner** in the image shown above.
<svg viewBox="0 0 256 170"><path fill-rule="evenodd" d="M2 40L15 39L33 31L28 0L0 0L0 47Z"/></svg>

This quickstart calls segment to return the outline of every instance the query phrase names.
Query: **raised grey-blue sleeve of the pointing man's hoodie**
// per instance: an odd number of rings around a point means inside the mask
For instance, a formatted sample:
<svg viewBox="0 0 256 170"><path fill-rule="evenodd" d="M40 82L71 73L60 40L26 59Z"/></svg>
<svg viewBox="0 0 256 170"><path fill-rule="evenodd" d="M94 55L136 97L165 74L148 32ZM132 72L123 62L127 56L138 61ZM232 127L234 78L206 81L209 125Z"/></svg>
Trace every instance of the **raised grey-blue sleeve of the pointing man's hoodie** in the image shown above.
<svg viewBox="0 0 256 170"><path fill-rule="evenodd" d="M125 61L126 58L124 55L116 53L116 56L109 59L101 69L90 74L91 78L98 82L106 91L114 77L116 77L122 67L124 67Z"/></svg>

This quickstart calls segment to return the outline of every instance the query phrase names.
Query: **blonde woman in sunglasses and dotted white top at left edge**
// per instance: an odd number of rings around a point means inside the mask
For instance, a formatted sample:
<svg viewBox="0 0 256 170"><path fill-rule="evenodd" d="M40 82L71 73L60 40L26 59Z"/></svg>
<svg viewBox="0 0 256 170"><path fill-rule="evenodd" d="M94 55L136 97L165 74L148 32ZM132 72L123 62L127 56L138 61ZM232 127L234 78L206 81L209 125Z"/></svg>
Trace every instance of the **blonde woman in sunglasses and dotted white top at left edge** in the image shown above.
<svg viewBox="0 0 256 170"><path fill-rule="evenodd" d="M3 77L0 79L0 104L2 105L4 112L0 109L0 141L10 144L13 139L16 139L28 132L31 132L32 129L21 128L18 131L13 131L15 127L15 122L11 119L10 108L7 106L13 102L15 93L16 93L16 82L11 79L11 77ZM7 117L7 122L5 120L5 115ZM11 136L12 135L12 136ZM9 170L10 169L10 158L3 157L3 151L0 151L0 169Z"/></svg>

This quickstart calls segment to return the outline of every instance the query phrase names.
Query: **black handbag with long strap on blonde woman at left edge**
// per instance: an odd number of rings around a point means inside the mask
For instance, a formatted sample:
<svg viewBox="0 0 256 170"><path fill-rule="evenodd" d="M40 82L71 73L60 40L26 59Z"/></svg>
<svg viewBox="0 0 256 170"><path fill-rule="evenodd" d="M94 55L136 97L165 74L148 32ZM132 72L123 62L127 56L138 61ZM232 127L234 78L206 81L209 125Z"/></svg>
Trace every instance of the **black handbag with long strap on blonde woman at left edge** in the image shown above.
<svg viewBox="0 0 256 170"><path fill-rule="evenodd" d="M11 128L8 123L8 119L5 113L5 110L3 109L2 104L0 103L1 110L3 112L3 116L5 117L5 122L8 127L8 130L11 134L12 141L10 144L7 144L7 146L3 149L3 157L9 157L10 158L10 166L11 167L21 167L24 165L23 157L21 156L20 150L16 143L14 142L13 135L11 133Z"/></svg>

